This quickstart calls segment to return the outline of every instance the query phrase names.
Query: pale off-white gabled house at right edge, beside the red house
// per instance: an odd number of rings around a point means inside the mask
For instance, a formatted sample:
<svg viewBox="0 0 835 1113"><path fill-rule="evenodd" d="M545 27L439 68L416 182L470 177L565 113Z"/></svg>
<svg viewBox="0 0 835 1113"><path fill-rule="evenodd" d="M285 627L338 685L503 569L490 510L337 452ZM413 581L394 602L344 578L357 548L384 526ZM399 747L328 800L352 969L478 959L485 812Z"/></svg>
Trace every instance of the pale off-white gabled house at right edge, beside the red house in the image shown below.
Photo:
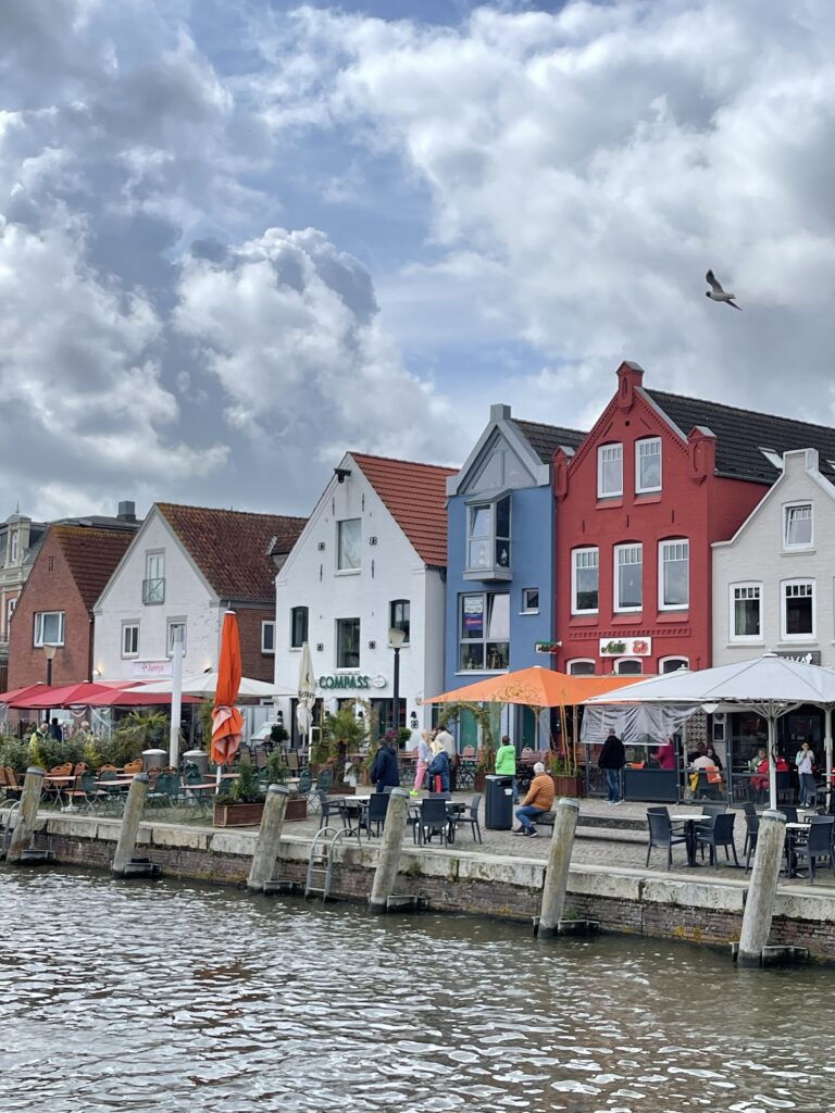
<svg viewBox="0 0 835 1113"><path fill-rule="evenodd" d="M835 666L834 553L835 486L815 449L786 452L736 534L713 545L714 664L773 651Z"/></svg>

